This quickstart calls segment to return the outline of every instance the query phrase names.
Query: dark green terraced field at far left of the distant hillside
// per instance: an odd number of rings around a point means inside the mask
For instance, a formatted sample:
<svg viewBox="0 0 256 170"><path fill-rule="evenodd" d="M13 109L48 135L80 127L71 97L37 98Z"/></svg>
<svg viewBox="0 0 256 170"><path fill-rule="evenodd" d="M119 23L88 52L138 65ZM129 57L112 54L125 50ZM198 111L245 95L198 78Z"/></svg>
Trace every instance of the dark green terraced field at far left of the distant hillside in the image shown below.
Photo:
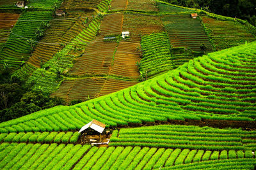
<svg viewBox="0 0 256 170"><path fill-rule="evenodd" d="M42 20L50 20L51 11L28 11L20 15L17 24L13 27L8 41L3 46L0 58L13 68L19 68L22 61L28 60L31 53L31 44L28 39L35 41L35 31Z"/></svg>

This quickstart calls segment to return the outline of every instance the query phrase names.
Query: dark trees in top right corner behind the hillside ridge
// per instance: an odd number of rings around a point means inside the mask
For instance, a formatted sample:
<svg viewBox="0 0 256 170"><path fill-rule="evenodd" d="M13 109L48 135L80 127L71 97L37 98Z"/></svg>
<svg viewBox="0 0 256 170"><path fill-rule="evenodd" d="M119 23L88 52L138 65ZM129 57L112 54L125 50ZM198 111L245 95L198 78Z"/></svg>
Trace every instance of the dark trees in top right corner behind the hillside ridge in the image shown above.
<svg viewBox="0 0 256 170"><path fill-rule="evenodd" d="M189 8L202 8L204 10L247 20L256 26L255 0L164 0L167 3L186 6Z"/></svg>

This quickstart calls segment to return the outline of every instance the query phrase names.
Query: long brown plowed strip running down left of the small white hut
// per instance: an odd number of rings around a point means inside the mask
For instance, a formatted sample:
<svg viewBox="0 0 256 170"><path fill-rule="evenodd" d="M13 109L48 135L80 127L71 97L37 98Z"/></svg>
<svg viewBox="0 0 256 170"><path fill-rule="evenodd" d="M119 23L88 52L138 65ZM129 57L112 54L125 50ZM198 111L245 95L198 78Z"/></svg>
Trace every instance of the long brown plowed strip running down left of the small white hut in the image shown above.
<svg viewBox="0 0 256 170"><path fill-rule="evenodd" d="M100 34L86 48L82 57L79 57L72 67L70 74L104 74L109 73L116 42L104 42L108 34L120 34L122 30L122 14L107 15L100 25Z"/></svg>

